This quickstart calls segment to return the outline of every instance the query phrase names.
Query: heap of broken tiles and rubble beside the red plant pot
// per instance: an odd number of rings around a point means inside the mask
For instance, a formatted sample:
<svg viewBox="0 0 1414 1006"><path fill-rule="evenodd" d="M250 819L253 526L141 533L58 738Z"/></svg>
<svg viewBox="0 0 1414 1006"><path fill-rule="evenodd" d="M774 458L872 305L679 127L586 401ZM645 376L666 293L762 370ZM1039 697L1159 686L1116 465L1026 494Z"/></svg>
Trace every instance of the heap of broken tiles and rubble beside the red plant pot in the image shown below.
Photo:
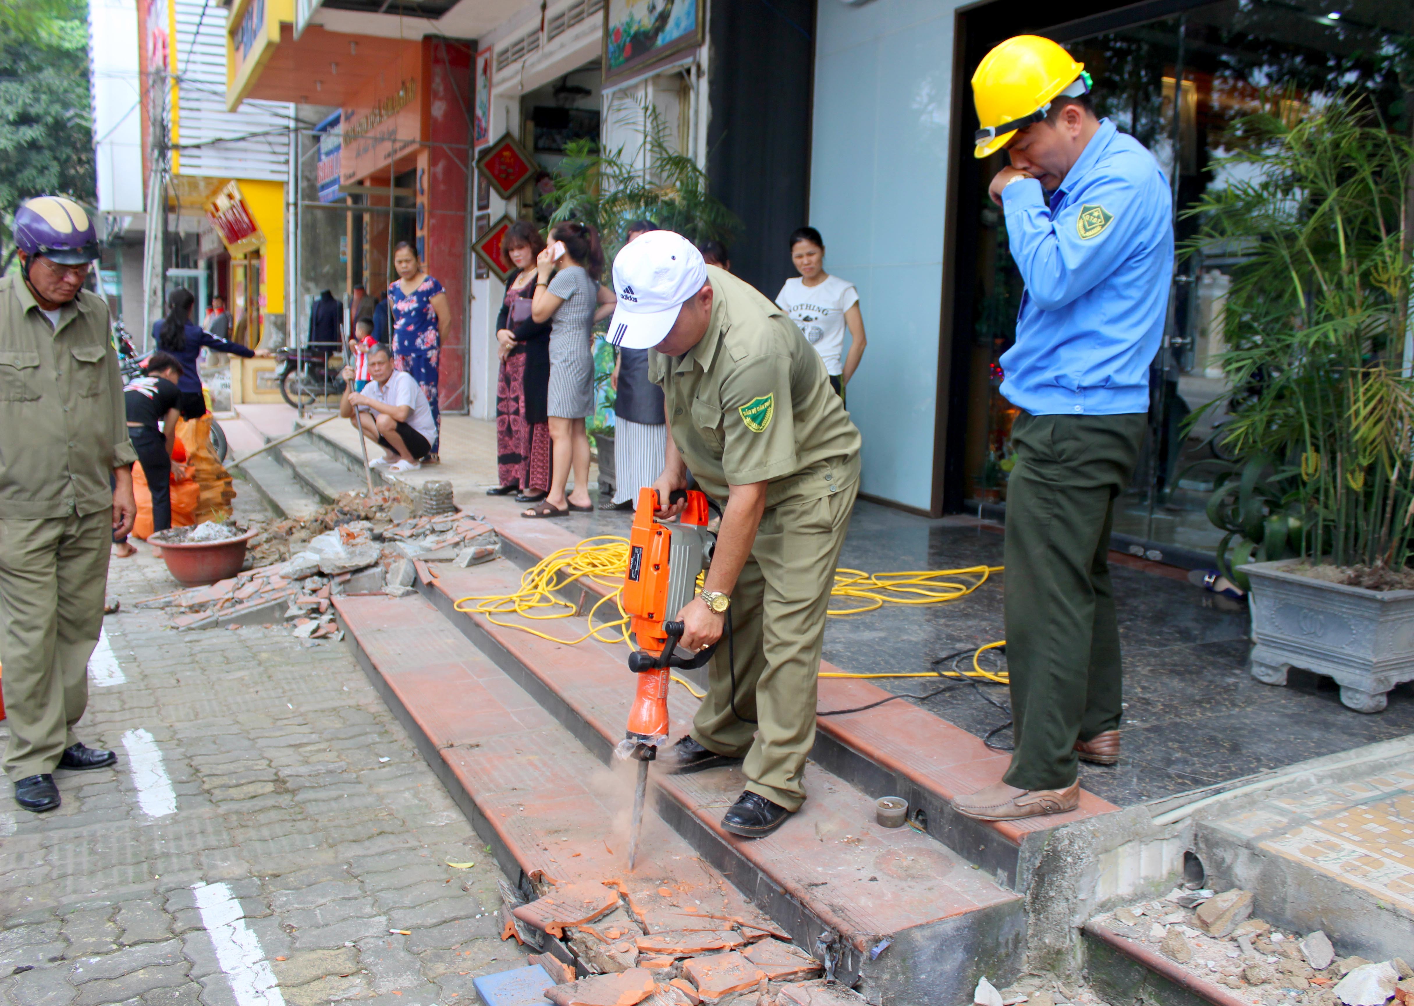
<svg viewBox="0 0 1414 1006"><path fill-rule="evenodd" d="M396 511L395 505L390 508ZM491 525L471 514L406 516L380 528L348 521L305 539L287 560L246 570L209 587L178 590L137 601L168 608L174 628L294 624L301 638L342 638L332 599L385 593L404 597L427 582L426 563L474 566L501 555Z"/></svg>

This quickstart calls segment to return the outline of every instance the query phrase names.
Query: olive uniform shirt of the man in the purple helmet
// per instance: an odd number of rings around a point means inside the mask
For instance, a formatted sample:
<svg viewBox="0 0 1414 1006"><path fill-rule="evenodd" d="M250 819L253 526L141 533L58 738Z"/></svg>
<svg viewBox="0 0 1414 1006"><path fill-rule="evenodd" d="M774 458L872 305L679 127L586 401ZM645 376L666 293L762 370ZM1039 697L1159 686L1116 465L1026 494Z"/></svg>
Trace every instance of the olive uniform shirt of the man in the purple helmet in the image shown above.
<svg viewBox="0 0 1414 1006"><path fill-rule="evenodd" d="M51 328L21 277L0 279L0 518L112 508L113 468L137 453L102 297L81 290Z"/></svg>

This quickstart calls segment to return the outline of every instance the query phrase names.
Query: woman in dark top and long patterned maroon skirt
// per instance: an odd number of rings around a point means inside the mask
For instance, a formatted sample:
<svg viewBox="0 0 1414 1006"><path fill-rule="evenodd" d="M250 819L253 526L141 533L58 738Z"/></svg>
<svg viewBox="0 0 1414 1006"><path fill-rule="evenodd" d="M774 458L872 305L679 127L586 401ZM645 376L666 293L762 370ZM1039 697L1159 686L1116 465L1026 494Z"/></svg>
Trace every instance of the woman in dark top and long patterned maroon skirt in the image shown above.
<svg viewBox="0 0 1414 1006"><path fill-rule="evenodd" d="M544 238L529 221L516 221L501 241L502 253L520 273L506 284L496 318L501 379L496 382L496 471L501 484L489 497L518 492L518 502L540 502L550 488L550 323L530 317L536 256Z"/></svg>

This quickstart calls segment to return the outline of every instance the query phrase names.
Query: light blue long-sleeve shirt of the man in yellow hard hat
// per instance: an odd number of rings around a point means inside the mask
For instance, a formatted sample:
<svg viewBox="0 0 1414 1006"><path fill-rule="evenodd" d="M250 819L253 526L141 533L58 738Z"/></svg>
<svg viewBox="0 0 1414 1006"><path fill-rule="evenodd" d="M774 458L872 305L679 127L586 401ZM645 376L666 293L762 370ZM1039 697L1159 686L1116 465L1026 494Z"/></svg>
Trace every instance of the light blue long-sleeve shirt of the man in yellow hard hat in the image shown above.
<svg viewBox="0 0 1414 1006"><path fill-rule="evenodd" d="M1109 119L1060 187L1001 192L1027 284L1001 393L1034 416L1148 412L1168 316L1174 209L1158 161Z"/></svg>

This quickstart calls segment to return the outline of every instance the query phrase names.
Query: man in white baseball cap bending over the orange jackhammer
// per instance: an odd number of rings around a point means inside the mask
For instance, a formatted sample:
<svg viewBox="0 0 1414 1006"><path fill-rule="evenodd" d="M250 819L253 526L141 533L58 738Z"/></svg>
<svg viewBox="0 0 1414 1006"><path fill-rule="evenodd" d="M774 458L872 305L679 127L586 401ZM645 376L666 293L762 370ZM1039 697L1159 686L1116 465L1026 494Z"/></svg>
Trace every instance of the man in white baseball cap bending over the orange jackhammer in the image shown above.
<svg viewBox="0 0 1414 1006"><path fill-rule="evenodd" d="M858 491L860 432L795 323L704 265L686 238L653 231L626 245L614 260L614 291L609 341L653 349L649 376L666 399L659 501L686 488L691 471L724 504L703 590L677 618L687 649L715 642L727 620L732 645L717 649L693 730L662 761L693 773L744 760L747 790L721 823L759 838L805 801L824 613Z"/></svg>

